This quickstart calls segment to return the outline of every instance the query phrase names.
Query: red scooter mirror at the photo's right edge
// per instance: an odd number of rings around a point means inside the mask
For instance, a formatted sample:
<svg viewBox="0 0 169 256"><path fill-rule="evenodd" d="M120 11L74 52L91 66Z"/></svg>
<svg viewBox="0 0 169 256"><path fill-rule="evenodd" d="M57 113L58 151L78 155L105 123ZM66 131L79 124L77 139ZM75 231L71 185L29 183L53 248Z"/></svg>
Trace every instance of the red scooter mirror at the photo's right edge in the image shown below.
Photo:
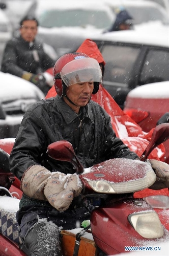
<svg viewBox="0 0 169 256"><path fill-rule="evenodd" d="M169 123L161 123L155 127L151 141L140 157L140 160L146 161L154 148L165 142L167 139L169 139Z"/></svg>

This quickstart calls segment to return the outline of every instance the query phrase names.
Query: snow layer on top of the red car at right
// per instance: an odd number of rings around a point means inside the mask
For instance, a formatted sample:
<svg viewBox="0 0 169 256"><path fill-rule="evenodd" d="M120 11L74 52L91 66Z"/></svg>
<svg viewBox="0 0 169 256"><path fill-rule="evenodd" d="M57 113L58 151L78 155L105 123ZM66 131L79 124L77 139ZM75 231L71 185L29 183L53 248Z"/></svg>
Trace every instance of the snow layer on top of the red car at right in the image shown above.
<svg viewBox="0 0 169 256"><path fill-rule="evenodd" d="M154 82L139 86L128 93L130 98L169 99L169 81Z"/></svg>

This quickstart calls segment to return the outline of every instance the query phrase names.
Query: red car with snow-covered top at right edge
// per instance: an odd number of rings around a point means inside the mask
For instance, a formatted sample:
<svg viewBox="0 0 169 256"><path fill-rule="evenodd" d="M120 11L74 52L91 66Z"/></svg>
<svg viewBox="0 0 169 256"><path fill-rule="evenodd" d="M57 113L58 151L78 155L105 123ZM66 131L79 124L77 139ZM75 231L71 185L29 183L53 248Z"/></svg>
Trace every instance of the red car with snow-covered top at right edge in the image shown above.
<svg viewBox="0 0 169 256"><path fill-rule="evenodd" d="M155 127L158 119L166 112L169 112L169 81L146 84L131 90L127 95L124 113L145 132ZM164 146L165 161L169 163L169 141L164 142Z"/></svg>

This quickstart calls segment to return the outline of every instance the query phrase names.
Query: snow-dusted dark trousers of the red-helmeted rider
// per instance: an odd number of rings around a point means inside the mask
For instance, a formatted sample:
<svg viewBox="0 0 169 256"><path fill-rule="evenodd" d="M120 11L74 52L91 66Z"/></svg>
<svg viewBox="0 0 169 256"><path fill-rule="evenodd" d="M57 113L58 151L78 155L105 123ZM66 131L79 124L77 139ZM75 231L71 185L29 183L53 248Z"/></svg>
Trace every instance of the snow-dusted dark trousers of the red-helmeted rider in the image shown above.
<svg viewBox="0 0 169 256"><path fill-rule="evenodd" d="M63 256L62 229L79 228L81 222L90 219L93 206L58 211L53 207L25 206L17 212L20 237L29 256Z"/></svg>

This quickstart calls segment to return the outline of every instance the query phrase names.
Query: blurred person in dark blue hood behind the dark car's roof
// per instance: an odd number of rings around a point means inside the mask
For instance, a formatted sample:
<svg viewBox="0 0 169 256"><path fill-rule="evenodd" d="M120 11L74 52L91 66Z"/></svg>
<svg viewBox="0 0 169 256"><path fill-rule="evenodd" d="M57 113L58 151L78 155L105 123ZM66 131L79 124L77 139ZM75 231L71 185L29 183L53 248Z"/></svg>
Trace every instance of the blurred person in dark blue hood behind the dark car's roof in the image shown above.
<svg viewBox="0 0 169 256"><path fill-rule="evenodd" d="M117 10L117 16L114 24L112 24L112 26L103 33L133 29L132 20L133 18L130 14L122 7Z"/></svg>

